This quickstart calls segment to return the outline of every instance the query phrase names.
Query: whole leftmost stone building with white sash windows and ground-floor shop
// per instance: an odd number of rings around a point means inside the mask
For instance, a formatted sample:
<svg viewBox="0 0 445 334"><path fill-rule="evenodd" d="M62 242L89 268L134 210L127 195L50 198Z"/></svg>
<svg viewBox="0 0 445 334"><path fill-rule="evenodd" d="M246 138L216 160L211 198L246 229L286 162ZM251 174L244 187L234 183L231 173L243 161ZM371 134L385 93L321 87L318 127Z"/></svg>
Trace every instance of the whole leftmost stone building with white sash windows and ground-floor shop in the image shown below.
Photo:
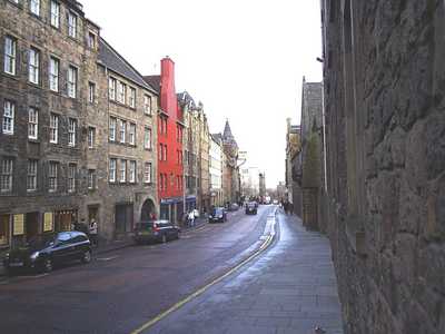
<svg viewBox="0 0 445 334"><path fill-rule="evenodd" d="M0 2L0 248L78 219L88 26L77 1Z"/></svg>

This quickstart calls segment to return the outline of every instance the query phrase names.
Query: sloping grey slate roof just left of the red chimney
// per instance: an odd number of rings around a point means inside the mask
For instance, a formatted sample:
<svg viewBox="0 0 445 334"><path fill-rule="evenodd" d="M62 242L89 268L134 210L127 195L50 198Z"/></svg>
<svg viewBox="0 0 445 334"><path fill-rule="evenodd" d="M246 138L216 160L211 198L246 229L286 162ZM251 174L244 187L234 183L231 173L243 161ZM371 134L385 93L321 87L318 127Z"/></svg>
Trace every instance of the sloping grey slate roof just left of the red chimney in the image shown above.
<svg viewBox="0 0 445 334"><path fill-rule="evenodd" d="M103 38L99 38L99 60L111 71L131 80L132 82L156 92L142 76L120 56Z"/></svg>

